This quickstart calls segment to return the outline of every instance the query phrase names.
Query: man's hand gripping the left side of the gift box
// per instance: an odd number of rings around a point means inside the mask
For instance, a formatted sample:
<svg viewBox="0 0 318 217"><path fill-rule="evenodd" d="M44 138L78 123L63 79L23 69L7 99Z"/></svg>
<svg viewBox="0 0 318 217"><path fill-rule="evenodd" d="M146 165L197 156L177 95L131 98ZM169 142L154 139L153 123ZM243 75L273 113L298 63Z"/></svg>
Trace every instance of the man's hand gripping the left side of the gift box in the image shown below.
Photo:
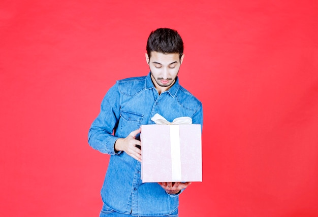
<svg viewBox="0 0 318 217"><path fill-rule="evenodd" d="M141 162L141 150L136 147L141 147L141 142L136 139L136 135L141 132L141 129L131 132L126 138L118 138L115 142L115 151L124 151L129 156Z"/></svg>

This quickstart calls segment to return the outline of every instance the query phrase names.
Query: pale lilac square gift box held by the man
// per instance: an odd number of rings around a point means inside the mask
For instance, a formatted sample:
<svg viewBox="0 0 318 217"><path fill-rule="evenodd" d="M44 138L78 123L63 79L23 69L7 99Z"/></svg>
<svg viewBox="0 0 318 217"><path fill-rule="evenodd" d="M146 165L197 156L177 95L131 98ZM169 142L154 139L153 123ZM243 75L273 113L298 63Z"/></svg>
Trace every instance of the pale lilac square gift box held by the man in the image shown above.
<svg viewBox="0 0 318 217"><path fill-rule="evenodd" d="M200 124L142 125L141 179L154 182L202 182Z"/></svg>

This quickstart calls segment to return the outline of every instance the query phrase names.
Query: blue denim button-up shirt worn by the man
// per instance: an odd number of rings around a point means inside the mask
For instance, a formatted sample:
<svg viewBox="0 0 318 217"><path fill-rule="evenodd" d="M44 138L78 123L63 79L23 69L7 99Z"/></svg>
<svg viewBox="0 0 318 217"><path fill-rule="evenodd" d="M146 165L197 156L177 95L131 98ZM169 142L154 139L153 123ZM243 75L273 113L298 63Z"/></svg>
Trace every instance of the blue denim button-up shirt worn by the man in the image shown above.
<svg viewBox="0 0 318 217"><path fill-rule="evenodd" d="M125 152L116 152L116 139L125 138L160 114L168 121L187 116L203 124L202 103L179 85L178 78L160 95L148 76L117 81L101 103L99 116L88 132L88 143L111 155L101 196L104 204L121 213L160 216L178 208L178 195L170 195L157 183L142 183L141 164ZM154 138L159 139L159 138Z"/></svg>

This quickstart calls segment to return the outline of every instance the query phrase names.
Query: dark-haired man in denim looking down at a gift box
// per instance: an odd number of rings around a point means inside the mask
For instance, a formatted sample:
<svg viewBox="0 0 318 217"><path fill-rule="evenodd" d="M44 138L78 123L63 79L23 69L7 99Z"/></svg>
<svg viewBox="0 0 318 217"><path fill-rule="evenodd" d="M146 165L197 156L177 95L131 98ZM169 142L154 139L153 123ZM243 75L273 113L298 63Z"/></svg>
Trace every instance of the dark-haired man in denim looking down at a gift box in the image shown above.
<svg viewBox="0 0 318 217"><path fill-rule="evenodd" d="M140 179L141 125L154 124L151 118L156 113L168 121L187 116L194 124L203 122L202 103L179 85L184 54L178 32L152 31L146 50L150 73L117 81L89 129L90 146L111 155L100 216L178 216L178 196L191 184L142 183Z"/></svg>

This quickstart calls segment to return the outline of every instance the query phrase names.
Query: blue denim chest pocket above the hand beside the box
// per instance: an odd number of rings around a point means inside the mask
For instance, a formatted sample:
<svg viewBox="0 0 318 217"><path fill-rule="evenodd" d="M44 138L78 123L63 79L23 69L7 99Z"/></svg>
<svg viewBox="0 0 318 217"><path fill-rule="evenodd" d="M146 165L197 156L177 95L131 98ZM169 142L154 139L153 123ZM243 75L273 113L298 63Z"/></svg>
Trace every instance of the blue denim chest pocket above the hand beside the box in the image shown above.
<svg viewBox="0 0 318 217"><path fill-rule="evenodd" d="M143 115L134 112L121 111L119 119L119 131L120 137L128 136L132 131L137 130L141 126Z"/></svg>

